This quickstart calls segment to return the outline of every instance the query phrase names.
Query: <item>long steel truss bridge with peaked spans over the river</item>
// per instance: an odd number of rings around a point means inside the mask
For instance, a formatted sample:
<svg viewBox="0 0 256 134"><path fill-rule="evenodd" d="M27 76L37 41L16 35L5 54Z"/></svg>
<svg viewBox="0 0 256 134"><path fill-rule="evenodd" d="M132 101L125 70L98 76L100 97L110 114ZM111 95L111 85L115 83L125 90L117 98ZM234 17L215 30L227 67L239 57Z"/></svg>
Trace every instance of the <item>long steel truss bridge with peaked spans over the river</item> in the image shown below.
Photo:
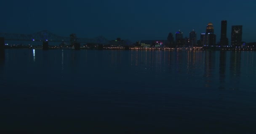
<svg viewBox="0 0 256 134"><path fill-rule="evenodd" d="M70 37L58 36L50 31L44 30L33 34L0 33L6 41L49 41L49 42L70 42ZM103 36L93 39L77 38L81 44L109 44L109 40Z"/></svg>

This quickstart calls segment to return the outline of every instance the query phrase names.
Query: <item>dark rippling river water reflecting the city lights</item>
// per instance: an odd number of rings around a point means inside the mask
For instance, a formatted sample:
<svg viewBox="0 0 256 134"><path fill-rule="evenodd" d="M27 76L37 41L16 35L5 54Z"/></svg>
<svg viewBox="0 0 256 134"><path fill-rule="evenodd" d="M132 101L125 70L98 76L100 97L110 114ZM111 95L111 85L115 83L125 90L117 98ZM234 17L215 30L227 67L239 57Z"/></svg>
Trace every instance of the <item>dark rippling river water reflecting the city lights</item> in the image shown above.
<svg viewBox="0 0 256 134"><path fill-rule="evenodd" d="M250 51L7 49L0 133L256 134L255 81Z"/></svg>

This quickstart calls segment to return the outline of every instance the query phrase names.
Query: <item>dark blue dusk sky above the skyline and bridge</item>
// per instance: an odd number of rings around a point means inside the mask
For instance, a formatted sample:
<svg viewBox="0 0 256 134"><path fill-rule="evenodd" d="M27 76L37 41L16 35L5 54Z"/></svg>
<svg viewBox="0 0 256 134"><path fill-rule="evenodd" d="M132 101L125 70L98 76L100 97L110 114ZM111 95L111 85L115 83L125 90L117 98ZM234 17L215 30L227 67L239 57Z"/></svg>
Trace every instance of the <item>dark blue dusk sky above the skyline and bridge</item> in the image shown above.
<svg viewBox="0 0 256 134"><path fill-rule="evenodd" d="M197 39L213 23L216 40L221 20L243 25L243 41L256 41L254 0L6 0L0 5L1 33L36 33L49 30L60 36L105 36L131 41L166 39L179 29L184 37L195 29Z"/></svg>

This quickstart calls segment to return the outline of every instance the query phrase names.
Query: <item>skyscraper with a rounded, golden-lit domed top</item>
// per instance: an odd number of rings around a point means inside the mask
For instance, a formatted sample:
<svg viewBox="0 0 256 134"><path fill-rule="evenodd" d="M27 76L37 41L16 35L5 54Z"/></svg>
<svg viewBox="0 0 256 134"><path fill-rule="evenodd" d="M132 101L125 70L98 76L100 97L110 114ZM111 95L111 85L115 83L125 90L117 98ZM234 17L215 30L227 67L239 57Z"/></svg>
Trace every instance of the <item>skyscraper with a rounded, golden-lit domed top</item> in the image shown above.
<svg viewBox="0 0 256 134"><path fill-rule="evenodd" d="M208 23L205 32L205 43L206 46L214 46L216 44L216 35L214 34L213 23Z"/></svg>

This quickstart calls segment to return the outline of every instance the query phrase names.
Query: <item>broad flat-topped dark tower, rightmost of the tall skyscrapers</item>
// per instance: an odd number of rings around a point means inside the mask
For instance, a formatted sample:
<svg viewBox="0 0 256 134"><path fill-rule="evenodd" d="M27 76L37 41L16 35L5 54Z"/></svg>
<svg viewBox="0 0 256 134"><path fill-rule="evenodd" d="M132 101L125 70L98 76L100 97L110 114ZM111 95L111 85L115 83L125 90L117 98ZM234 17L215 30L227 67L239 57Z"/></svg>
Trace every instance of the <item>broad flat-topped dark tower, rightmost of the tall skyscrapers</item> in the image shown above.
<svg viewBox="0 0 256 134"><path fill-rule="evenodd" d="M242 28L243 26L232 26L231 30L231 46L242 45Z"/></svg>

